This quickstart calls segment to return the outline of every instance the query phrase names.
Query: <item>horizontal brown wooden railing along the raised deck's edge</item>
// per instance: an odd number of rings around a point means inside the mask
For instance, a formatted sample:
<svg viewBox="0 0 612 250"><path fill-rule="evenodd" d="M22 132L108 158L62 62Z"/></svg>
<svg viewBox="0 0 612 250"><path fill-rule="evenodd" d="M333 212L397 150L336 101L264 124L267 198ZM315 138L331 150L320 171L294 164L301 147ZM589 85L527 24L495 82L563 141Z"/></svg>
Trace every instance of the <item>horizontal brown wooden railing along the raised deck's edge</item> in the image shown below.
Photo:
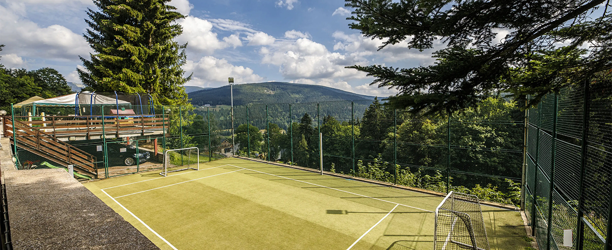
<svg viewBox="0 0 612 250"><path fill-rule="evenodd" d="M141 132L162 130L168 127L168 117L144 115L125 119L124 116L15 116L18 121L54 137L72 134ZM29 119L33 119L29 121ZM43 120L44 119L44 120Z"/></svg>

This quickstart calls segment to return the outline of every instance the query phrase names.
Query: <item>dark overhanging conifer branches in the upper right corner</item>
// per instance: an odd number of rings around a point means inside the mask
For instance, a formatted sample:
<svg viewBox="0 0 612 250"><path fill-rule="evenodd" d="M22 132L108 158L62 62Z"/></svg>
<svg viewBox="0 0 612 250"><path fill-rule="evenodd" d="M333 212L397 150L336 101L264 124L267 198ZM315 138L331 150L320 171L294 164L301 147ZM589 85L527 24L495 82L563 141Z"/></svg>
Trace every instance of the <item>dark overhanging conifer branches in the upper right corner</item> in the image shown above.
<svg viewBox="0 0 612 250"><path fill-rule="evenodd" d="M612 15L591 17L605 2L346 0L353 9L349 27L383 40L379 49L405 44L425 50L436 39L446 44L433 52L431 66L351 68L375 77L371 84L400 89L390 104L411 112L452 112L500 90L541 97L567 79L587 80L612 66ZM498 40L499 30L510 32ZM557 41L565 46L555 47ZM513 67L536 74L518 80Z"/></svg>

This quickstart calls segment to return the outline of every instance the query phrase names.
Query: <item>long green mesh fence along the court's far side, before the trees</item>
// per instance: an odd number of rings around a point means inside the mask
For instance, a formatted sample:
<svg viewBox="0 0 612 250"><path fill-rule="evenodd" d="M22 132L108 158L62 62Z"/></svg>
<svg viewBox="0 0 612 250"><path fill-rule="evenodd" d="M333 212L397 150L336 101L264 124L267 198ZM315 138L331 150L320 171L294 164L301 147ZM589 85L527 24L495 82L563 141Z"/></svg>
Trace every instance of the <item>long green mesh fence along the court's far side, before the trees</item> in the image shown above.
<svg viewBox="0 0 612 250"><path fill-rule="evenodd" d="M520 205L520 107L499 96L425 117L378 100L242 106L237 153L312 169L323 157L328 172Z"/></svg>

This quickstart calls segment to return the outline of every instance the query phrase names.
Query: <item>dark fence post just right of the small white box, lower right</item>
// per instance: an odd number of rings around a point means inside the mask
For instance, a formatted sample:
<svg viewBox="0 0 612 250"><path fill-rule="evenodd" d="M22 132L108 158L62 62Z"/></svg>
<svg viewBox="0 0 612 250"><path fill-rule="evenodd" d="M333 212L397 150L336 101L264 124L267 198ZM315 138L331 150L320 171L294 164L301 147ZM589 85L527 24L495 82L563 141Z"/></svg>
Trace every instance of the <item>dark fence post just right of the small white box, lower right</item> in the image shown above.
<svg viewBox="0 0 612 250"><path fill-rule="evenodd" d="M584 248L584 224L582 222L584 211L582 207L584 206L584 197L583 197L583 189L584 189L584 172L586 169L586 147L588 146L587 135L589 132L589 81L584 81L584 103L583 103L583 118L582 118L582 145L580 148L580 182L578 184L578 224L576 229L578 247L577 250L582 250ZM608 219L611 219L608 217ZM608 234L609 235L609 234Z"/></svg>

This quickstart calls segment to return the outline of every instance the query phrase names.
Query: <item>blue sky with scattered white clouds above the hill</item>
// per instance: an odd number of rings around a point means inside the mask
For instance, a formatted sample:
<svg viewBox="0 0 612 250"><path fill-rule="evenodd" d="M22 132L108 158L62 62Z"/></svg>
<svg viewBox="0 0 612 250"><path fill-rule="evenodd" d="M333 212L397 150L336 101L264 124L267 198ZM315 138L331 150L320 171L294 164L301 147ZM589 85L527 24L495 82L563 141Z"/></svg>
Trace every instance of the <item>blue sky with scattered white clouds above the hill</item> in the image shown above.
<svg viewBox="0 0 612 250"><path fill-rule="evenodd" d="M390 96L374 78L346 66L379 64L417 67L433 64L431 52L405 43L378 50L379 39L348 27L351 9L343 0L173 0L187 18L175 40L187 45L186 85L219 87L236 83L287 81L323 85L371 96ZM0 0L0 63L28 70L52 67L80 83L79 56L93 50L84 40L91 0ZM436 44L435 47L438 47Z"/></svg>

